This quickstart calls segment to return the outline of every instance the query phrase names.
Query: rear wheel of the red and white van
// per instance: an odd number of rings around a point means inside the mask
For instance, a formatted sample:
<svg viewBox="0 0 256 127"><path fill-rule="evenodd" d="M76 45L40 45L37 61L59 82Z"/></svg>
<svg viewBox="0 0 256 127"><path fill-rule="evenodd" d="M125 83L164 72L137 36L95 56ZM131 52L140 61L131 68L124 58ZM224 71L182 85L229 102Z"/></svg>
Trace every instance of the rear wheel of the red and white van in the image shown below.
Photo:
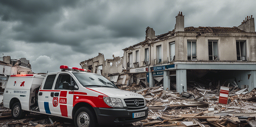
<svg viewBox="0 0 256 127"><path fill-rule="evenodd" d="M23 119L25 116L26 112L22 111L20 103L14 103L12 106L12 119Z"/></svg>

